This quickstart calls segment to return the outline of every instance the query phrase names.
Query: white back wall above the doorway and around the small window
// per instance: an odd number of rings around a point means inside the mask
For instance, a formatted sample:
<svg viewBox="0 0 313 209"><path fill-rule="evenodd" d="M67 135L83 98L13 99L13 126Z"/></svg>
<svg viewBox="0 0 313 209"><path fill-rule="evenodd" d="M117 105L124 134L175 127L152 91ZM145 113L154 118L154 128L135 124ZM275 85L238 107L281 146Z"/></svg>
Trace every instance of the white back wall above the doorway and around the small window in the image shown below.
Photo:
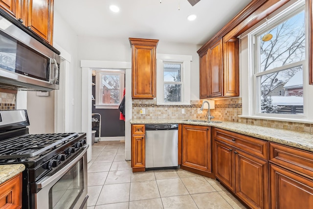
<svg viewBox="0 0 313 209"><path fill-rule="evenodd" d="M138 37L140 38L140 37ZM166 43L159 41L156 53L192 55L191 100L199 100L199 55L200 46ZM78 37L79 60L103 60L131 62L132 50L128 39L105 39L101 37Z"/></svg>

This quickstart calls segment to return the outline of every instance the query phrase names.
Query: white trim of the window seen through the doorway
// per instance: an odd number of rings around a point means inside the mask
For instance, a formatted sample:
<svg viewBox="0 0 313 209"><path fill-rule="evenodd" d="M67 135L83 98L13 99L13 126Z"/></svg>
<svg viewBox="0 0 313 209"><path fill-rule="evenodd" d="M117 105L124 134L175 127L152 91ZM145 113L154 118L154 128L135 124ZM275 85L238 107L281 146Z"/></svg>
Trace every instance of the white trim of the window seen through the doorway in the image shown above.
<svg viewBox="0 0 313 209"><path fill-rule="evenodd" d="M101 73L116 73L116 74L125 74L125 70L96 70L96 86L95 86L95 108L96 109L118 109L119 104L102 104L100 102L101 98L101 91L100 91L100 83L101 83ZM125 76L121 76L121 88L120 88L120 101L123 99L123 91L124 91L124 83L125 83Z"/></svg>

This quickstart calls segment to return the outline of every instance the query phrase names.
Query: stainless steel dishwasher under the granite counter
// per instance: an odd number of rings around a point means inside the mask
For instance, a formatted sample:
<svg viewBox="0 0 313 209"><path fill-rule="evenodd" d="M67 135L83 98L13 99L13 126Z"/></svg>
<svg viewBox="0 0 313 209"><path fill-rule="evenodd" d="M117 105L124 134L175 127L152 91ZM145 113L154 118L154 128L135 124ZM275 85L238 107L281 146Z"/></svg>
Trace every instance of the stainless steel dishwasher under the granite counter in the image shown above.
<svg viewBox="0 0 313 209"><path fill-rule="evenodd" d="M146 168L178 167L178 124L146 124Z"/></svg>

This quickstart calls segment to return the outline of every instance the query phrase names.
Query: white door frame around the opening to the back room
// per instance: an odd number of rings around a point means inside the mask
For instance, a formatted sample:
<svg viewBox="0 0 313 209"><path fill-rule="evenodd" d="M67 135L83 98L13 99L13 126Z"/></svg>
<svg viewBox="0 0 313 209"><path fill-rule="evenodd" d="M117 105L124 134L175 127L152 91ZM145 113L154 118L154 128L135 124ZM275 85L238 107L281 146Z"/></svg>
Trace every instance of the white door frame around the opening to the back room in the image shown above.
<svg viewBox="0 0 313 209"><path fill-rule="evenodd" d="M89 149L87 161L91 161L91 81L93 69L125 70L125 160L131 160L131 119L132 119L132 63L117 61L81 60L82 68L82 132L87 134Z"/></svg>

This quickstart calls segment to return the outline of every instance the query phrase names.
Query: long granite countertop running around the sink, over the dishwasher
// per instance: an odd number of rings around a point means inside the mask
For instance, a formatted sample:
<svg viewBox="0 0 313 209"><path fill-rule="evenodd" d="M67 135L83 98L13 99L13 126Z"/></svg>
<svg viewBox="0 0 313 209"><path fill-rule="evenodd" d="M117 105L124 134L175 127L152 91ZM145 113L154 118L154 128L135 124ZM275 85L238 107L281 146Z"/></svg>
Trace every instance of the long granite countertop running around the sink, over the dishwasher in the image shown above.
<svg viewBox="0 0 313 209"><path fill-rule="evenodd" d="M189 119L189 118L188 118ZM132 124L157 124L157 123L182 123L191 125L205 125L221 128L224 130L244 134L258 139L273 141L289 145L295 148L313 152L313 134L307 132L289 131L285 129L269 128L257 125L248 125L239 122L223 121L222 123L205 123L184 121L184 118L177 119L132 119Z"/></svg>

